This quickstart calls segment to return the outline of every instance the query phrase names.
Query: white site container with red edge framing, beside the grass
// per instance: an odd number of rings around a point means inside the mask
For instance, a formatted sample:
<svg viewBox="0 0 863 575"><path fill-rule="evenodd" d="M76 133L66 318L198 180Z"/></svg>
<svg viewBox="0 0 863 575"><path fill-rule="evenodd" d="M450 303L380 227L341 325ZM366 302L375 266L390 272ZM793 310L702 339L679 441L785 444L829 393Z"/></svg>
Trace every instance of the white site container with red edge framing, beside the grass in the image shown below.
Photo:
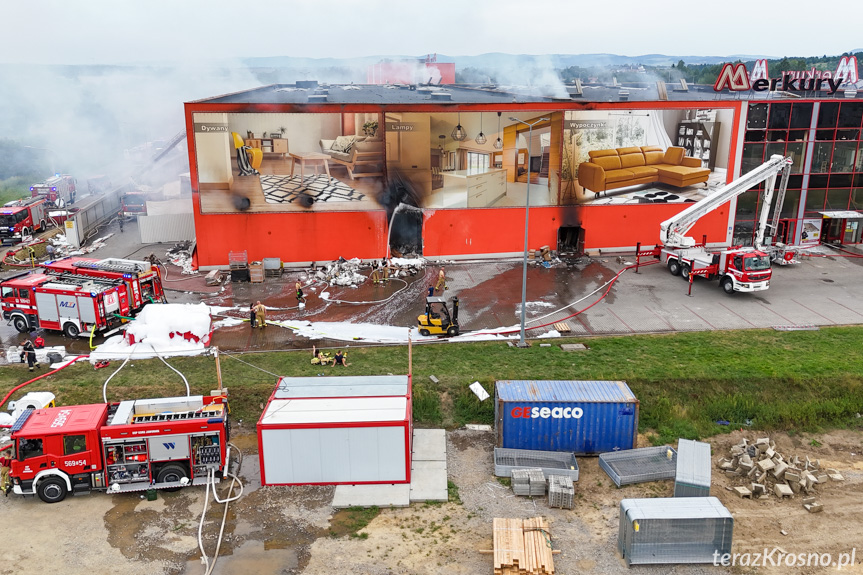
<svg viewBox="0 0 863 575"><path fill-rule="evenodd" d="M410 378L280 378L258 421L261 484L410 483Z"/></svg>

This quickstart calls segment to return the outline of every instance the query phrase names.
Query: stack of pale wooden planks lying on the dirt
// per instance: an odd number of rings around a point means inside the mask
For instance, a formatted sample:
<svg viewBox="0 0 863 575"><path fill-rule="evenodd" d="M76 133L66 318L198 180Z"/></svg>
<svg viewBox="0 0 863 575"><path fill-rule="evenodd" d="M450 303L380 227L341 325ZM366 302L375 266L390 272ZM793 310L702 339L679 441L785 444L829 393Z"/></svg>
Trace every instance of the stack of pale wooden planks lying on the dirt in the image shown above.
<svg viewBox="0 0 863 575"><path fill-rule="evenodd" d="M495 517L495 575L553 575L551 533L542 517Z"/></svg>

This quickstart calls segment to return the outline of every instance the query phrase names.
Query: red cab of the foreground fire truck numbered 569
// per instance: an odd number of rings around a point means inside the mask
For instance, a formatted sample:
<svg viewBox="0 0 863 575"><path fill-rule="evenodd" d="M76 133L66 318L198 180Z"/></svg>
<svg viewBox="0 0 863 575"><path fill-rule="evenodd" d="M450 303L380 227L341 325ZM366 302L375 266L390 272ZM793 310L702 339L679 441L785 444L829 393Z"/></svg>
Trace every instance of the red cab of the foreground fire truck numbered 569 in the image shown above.
<svg viewBox="0 0 863 575"><path fill-rule="evenodd" d="M12 427L12 490L57 503L104 482L99 428L107 410L107 404L26 410Z"/></svg>

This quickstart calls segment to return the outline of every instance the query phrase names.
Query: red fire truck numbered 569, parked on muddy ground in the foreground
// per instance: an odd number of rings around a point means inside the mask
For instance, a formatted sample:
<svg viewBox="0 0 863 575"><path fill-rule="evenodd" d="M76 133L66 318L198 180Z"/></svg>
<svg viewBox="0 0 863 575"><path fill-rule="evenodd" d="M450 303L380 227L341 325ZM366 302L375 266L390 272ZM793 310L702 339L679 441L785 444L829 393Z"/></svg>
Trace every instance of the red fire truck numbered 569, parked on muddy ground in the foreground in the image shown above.
<svg viewBox="0 0 863 575"><path fill-rule="evenodd" d="M229 439L227 393L27 409L12 425L12 491L57 503L205 485L228 471Z"/></svg>

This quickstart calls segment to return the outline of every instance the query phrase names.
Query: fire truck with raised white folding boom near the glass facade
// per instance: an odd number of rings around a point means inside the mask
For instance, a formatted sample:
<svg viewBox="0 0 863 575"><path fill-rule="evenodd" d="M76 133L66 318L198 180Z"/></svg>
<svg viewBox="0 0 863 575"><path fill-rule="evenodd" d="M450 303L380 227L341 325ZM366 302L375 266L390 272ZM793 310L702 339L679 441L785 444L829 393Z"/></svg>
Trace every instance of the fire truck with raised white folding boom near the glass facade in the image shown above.
<svg viewBox="0 0 863 575"><path fill-rule="evenodd" d="M708 280L719 279L720 287L727 294L768 289L773 273L771 260L779 258L788 261L788 254L793 258L793 252L787 250L786 246L765 243L767 211L773 199L777 177L780 173L784 176L780 186L780 198L784 198L790 169L790 158L774 155L751 172L718 188L703 200L662 222L659 225L662 244L652 250L639 251L638 256L653 256L665 262L672 275L682 276L687 281L691 281L690 276L703 276ZM702 216L762 182L763 207L753 247L708 249L703 243L697 244L693 238L685 235ZM781 207L781 201L777 202L777 207Z"/></svg>

